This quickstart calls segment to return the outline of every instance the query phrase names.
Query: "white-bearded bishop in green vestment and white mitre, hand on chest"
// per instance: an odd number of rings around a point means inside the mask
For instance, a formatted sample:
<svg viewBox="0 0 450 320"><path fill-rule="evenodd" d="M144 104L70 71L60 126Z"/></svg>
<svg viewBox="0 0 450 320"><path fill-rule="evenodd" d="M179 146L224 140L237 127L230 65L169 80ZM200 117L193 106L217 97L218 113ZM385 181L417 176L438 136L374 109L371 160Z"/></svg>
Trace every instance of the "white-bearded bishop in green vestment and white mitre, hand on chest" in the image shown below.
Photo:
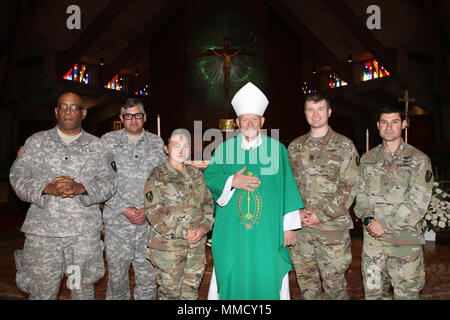
<svg viewBox="0 0 450 320"><path fill-rule="evenodd" d="M301 227L303 202L286 148L261 133L267 104L251 83L235 95L242 133L221 144L205 170L216 202L209 299L289 298L288 246L295 244L291 230Z"/></svg>

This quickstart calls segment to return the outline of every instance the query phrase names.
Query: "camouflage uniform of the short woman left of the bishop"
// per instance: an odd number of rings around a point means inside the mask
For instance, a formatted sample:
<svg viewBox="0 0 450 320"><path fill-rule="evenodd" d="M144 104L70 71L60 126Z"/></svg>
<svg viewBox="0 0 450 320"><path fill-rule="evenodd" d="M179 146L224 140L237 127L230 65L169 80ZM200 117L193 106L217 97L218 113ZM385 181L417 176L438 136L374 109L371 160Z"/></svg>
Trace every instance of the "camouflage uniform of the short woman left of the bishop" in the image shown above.
<svg viewBox="0 0 450 320"><path fill-rule="evenodd" d="M202 172L185 165L182 172L168 161L155 168L145 187L150 221L148 247L161 300L196 300L205 272L206 232L214 223L211 192ZM189 229L202 227L203 238L190 244Z"/></svg>

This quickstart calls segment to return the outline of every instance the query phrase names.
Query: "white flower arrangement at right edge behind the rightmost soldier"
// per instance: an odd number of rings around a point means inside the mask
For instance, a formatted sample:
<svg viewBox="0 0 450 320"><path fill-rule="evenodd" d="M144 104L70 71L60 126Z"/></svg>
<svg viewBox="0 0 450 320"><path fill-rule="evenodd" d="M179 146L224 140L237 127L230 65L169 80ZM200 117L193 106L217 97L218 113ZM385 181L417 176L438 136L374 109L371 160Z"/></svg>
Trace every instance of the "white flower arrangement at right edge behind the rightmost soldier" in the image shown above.
<svg viewBox="0 0 450 320"><path fill-rule="evenodd" d="M450 197L441 188L444 182L433 183L433 194L424 217L424 231L450 230Z"/></svg>

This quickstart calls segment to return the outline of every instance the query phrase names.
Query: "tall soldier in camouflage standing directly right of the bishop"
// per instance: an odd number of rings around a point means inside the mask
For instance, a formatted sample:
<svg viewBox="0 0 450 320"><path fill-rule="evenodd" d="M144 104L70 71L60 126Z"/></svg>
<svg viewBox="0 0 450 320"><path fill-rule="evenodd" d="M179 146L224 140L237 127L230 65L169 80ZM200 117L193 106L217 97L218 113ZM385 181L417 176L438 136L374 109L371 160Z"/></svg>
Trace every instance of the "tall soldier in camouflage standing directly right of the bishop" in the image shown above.
<svg viewBox="0 0 450 320"><path fill-rule="evenodd" d="M288 147L305 204L300 210L303 228L290 247L303 299L348 299L344 275L352 260L353 228L348 210L356 194L359 156L350 139L328 126L330 115L327 98L309 95L305 116L311 130Z"/></svg>

